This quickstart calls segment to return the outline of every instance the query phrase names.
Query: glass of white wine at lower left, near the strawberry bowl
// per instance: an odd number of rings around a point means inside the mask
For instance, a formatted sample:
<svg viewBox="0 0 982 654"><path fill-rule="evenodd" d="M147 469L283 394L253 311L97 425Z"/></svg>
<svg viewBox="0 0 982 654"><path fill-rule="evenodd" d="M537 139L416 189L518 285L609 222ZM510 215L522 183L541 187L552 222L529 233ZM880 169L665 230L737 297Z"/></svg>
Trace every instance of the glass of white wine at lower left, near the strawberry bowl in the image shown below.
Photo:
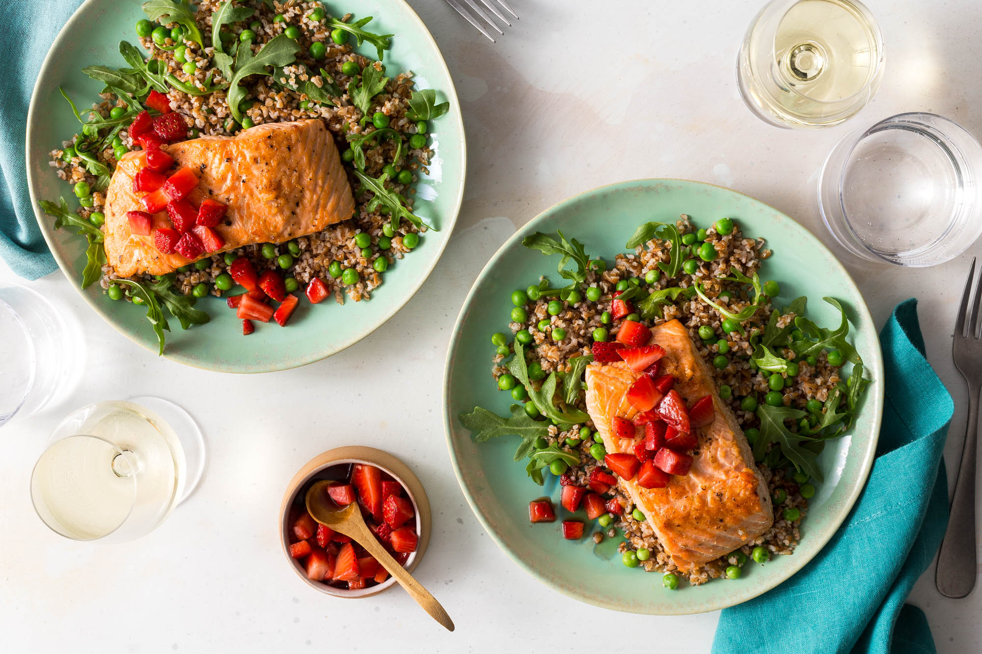
<svg viewBox="0 0 982 654"><path fill-rule="evenodd" d="M74 540L143 536L191 495L204 442L191 415L159 398L83 407L55 428L30 476L37 516Z"/></svg>

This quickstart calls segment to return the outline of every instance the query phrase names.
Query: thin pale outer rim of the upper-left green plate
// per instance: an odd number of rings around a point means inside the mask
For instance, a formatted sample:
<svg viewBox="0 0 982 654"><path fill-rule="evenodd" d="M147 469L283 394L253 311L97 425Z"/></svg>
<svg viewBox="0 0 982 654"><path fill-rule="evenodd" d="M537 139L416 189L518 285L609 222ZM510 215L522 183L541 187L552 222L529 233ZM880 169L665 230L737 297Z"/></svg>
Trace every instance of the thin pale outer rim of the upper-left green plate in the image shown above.
<svg viewBox="0 0 982 654"><path fill-rule="evenodd" d="M248 363L246 361L244 362L224 362L221 360L216 361L206 357L199 357L194 354L188 354L183 351L175 352L174 349L170 347L164 349L164 353L161 355L162 357L171 359L173 361L182 363L184 365L189 365L191 367L195 367L203 370L213 370L216 372L257 374L262 372L275 372L279 370L288 370L291 368L297 368L327 358L334 354L338 354L339 352L342 352L354 346L356 343L358 343L359 341L367 337L369 334L376 331L382 325L387 323L396 313L400 311L400 309L402 309L409 302L409 300L411 300L415 296L415 294L419 291L419 289L422 288L423 284L426 283L426 280L429 279L429 276L432 274L434 268L436 268L437 263L439 263L441 257L443 256L443 252L445 251L447 245L450 243L450 239L453 236L454 228L457 225L457 220L461 212L461 207L464 203L464 189L466 185L466 171L467 171L467 144L466 144L466 133L464 131L464 117L461 113L461 102L457 93L457 87L454 84L454 78L450 73L450 69L447 67L446 59L443 56L443 53L441 52L440 47L436 42L436 39L433 38L433 34L430 32L429 28L426 27L426 25L423 23L422 19L419 18L419 15L415 12L415 10L412 9L412 7L409 5L408 2L406 2L406 0L393 0L393 1L396 4L400 5L402 11L404 11L406 15L409 17L409 19L413 22L413 26L412 26L413 30L418 31L418 33L422 36L422 38L425 39L428 42L428 44L433 48L433 50L436 52L437 61L432 63L434 66L438 68L438 72L443 76L445 76L445 79L447 80L447 82L449 82L446 85L441 86L439 89L446 95L446 99L447 101L450 102L451 105L450 111L447 114L445 114L445 116L441 120L450 118L454 122L453 130L460 135L459 138L454 139L454 142L452 143L448 142L448 145L451 147L458 148L460 151L461 173L460 173L460 182L456 186L456 188L450 186L442 187L443 189L446 189L448 195L452 194L453 197L450 210L446 211L441 215L442 224L440 225L440 233L446 234L446 238L441 239L439 243L436 244L437 249L432 253L428 254L428 256L430 256L431 259L424 265L421 271L417 272L418 279L410 284L408 292L406 292L402 297L391 300L391 305L387 307L387 309L378 318L371 320L370 321L371 324L367 328L361 330L360 332L357 332L356 334L352 335L351 337L343 341L331 344L329 347L325 347L324 349L318 352L314 352L306 355L293 356L293 357L291 357L290 355L283 355L282 358L279 358L275 361L267 362L265 364L254 364L254 363ZM88 295L87 290L82 290L78 280L73 278L73 275L71 274L73 267L69 260L69 255L63 254L59 246L59 241L63 238L77 239L77 237L67 234L62 236L56 236L57 231L54 229L54 227L51 224L52 220L50 219L50 217L47 216L47 214L41 211L40 206L38 205L39 198L37 197L37 194L35 192L35 189L37 188L37 184L36 184L36 180L34 179L35 176L33 174L34 173L33 167L30 163L33 160L33 158L37 156L43 156L46 161L47 152L50 149L52 149L54 145L57 144L55 141L52 141L53 143L52 147L47 147L47 148L42 147L40 148L40 151L37 151L36 148L31 148L32 136L34 136L37 132L45 129L45 126L38 124L37 104L38 104L38 96L40 93L40 89L50 84L51 82L49 82L49 78L54 77L56 74L56 72L54 71L55 64L53 62L52 54L67 43L67 41L70 38L70 34L77 27L77 24L82 24L87 12L94 11L93 6L98 5L100 3L113 4L112 0L84 0L82 2L82 4L75 10L75 12L73 12L72 16L65 23L65 25L59 30L58 35L55 37L54 41L52 42L51 47L48 49L47 54L44 56L44 61L41 64L40 70L38 71L37 79L34 82L34 87L30 94L30 104L27 109L27 130L26 130L26 147L25 147L25 152L27 154L27 191L30 195L31 208L34 211L34 218L41 229L41 234L44 236L44 241L47 244L48 249L51 250L51 253L54 256L55 261L58 264L59 270L62 272L62 274L65 275L66 278L68 278L69 283L72 285L72 288L75 289L75 291L82 297L82 300L84 300L85 303L89 305L89 307L91 307L97 314L99 314L102 317L102 319L105 320L107 323L109 323L114 329L116 329L118 332L120 332L128 339L136 343L136 345L156 355L157 344L155 341L150 342L145 338L145 334L141 334L137 330L124 327L123 324L121 324L120 322L118 322L116 319L113 318L112 312L104 310L103 307L101 307ZM136 4L136 6L139 6L141 4L141 2L137 2L136 0L134 0L134 3ZM125 39L126 35L121 34L120 38ZM115 55L110 55L110 56L115 56ZM374 55L372 55L372 58L374 58ZM79 72L78 75L83 77L81 72ZM47 172L47 170L48 169L45 168L44 172ZM378 293L381 290L382 287L380 286L378 289L376 289L375 293ZM373 298L372 300L364 300L364 301L380 301L380 300L381 299L376 300ZM170 321L172 323L176 322L175 320L170 320ZM176 326L175 329L177 329L178 327L179 326ZM201 329L202 327L207 328L207 325L198 326L193 329L194 330ZM178 331L181 330L178 329ZM173 330L170 332L172 336L174 335L174 333L175 332ZM223 334L221 336L225 336L225 335ZM170 343L170 341L171 339L169 338L168 342Z"/></svg>

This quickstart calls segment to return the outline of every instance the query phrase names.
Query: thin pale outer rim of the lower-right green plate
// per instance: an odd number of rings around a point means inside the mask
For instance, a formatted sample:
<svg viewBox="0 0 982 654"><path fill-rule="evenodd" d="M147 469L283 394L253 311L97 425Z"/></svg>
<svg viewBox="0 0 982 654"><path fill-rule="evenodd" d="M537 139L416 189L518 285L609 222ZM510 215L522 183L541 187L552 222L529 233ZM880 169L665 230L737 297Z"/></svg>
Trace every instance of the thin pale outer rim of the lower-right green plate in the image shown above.
<svg viewBox="0 0 982 654"><path fill-rule="evenodd" d="M664 184L682 184L682 185L693 185L697 188L703 188L709 191L723 191L726 193L732 193L735 196L744 198L753 204L758 205L764 209L767 209L779 217L786 219L787 227L798 234L795 236L806 240L809 246L815 247L820 250L822 254L827 256L839 271L842 273L843 278L846 282L848 289L854 294L854 297L860 301L852 302L850 301L850 308L852 309L853 315L858 316L859 322L863 322L867 325L873 327L871 333L871 338L876 347L872 348L872 352L863 352L863 361L867 364L867 370L869 374L873 377L874 383L871 385L869 393L863 400L863 405L860 409L861 413L869 413L875 411L873 414L873 421L871 426L868 428L868 438L865 447L860 451L862 456L862 461L860 463L859 474L855 477L855 481L852 483L851 487L848 488L848 493L841 501L837 504L832 519L822 526L821 533L811 533L808 534L808 539L802 539L798 543L795 551L790 555L791 563L784 566L784 569L778 573L770 576L766 581L762 581L757 584L745 585L740 584L733 592L728 594L728 599L726 600L716 600L716 601L700 601L697 596L689 596L679 598L679 602L673 602L668 606L659 606L652 608L649 605L638 606L636 604L625 604L613 601L603 595L590 593L584 591L581 587L573 587L572 585L566 585L558 582L555 579L549 578L548 575L539 571L534 565L526 561L524 558L519 556L511 545L507 542L505 537L495 530L489 521L489 519L480 511L478 508L478 503L471 492L467 480L464 478L464 471L461 466L461 458L465 456L457 445L457 439L454 436L455 430L463 436L461 437L464 442L469 443L470 437L469 432L462 425L457 423L456 414L451 412L451 374L454 368L454 360L457 354L458 346L460 345L460 340L462 338L464 329L465 318L470 311L471 305L473 304L476 296L479 293L480 288L483 284L494 275L495 268L497 267L499 261L506 255L506 253L515 247L521 239L530 233L536 231L551 231L549 229L549 221L554 214L563 212L568 207L572 206L574 203L593 195L605 194L616 191L629 190L633 187L640 186L650 186L650 185L664 185ZM637 221L640 224L642 219ZM571 235L572 236L572 235ZM627 236L626 236L627 238ZM588 246L588 245L587 245ZM619 250L620 251L620 250ZM532 253L529 254L530 256ZM543 274L549 272L550 266L548 263L542 266ZM852 322L850 320L850 322ZM855 323L853 323L855 324ZM706 613L711 611L718 611L731 606L736 606L746 602L747 600L753 599L758 595L761 595L768 590L778 586L793 574L804 568L816 555L821 552L825 545L832 539L835 533L842 526L843 522L846 520L849 512L852 510L853 505L858 499L859 495L862 493L863 488L866 485L866 480L869 476L869 472L872 469L873 463L875 461L876 445L879 440L880 426L883 417L883 403L884 403L884 371L883 371L883 356L879 348L879 334L875 330L875 323L873 322L872 316L869 312L869 307L866 305L866 301L862 299L862 294L859 292L858 287L852 280L851 276L848 274L845 266L839 261L838 257L824 244L822 244L818 239L816 239L807 229L802 227L799 223L793 220L787 214L775 209L774 207L766 204L746 193L741 193L739 191L734 191L726 187L720 187L714 184L708 184L704 182L697 182L694 180L685 180L677 178L652 178L652 179L637 179L629 180L625 182L614 183L610 185L605 185L597 187L589 191L583 191L577 193L571 197L568 197L544 211L540 212L534 218L532 218L528 223L519 228L515 234L513 234L491 257L491 259L484 266L481 273L477 276L470 290L467 293L467 297L464 300L464 305L461 308L461 312L458 315L457 322L454 327L454 332L451 336L450 346L447 351L447 359L444 367L444 383L443 383L443 419L444 419L444 432L447 439L447 448L450 454L450 460L454 467L454 473L457 476L458 483L461 486L461 490L464 492L464 497L467 500L467 504L470 507L471 512L484 527L484 530L491 536L492 540L501 548L508 556L511 558L518 567L528 572L533 577L541 581L542 583L550 586L554 590L572 597L575 600L583 602L585 604L590 604L593 606L598 606L605 609L610 609L613 611L620 611L625 613L635 613L641 615L662 615L662 616L674 616L674 615L692 615L698 613ZM855 432L852 432L853 435ZM865 432L864 432L865 433ZM507 464L519 465L519 463L513 463L511 460ZM529 487L531 489L531 486ZM543 491L545 493L546 491ZM542 493L540 493L542 494ZM529 498L532 498L533 493L529 493ZM557 523L560 518L557 517ZM554 523L555 524L555 523ZM784 558L784 557L782 557ZM657 573L655 573L657 574ZM719 579L711 580L712 583L726 583ZM686 589L686 593L698 594L699 590L703 586L696 586ZM677 591L673 591L677 592Z"/></svg>

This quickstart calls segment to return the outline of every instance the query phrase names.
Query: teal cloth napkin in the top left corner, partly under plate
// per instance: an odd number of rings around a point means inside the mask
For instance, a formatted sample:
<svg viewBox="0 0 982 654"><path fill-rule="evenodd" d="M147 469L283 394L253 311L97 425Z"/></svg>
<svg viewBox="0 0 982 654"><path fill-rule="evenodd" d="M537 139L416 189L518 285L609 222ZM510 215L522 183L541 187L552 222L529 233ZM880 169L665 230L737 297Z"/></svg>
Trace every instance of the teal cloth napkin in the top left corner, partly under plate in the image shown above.
<svg viewBox="0 0 982 654"><path fill-rule="evenodd" d="M54 271L54 257L37 227L27 192L27 107L41 62L58 29L81 0L0 2L0 257L15 273L37 279Z"/></svg>

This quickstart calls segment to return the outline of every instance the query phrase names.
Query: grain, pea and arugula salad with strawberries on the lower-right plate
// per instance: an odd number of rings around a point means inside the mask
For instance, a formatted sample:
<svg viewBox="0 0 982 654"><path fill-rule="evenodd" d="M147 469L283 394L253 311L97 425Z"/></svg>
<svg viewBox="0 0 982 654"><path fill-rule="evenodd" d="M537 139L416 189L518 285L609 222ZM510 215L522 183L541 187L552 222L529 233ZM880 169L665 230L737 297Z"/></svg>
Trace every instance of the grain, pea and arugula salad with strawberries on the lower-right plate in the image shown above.
<svg viewBox="0 0 982 654"><path fill-rule="evenodd" d="M552 288L543 277L513 292L510 333L491 337L491 372L515 404L507 417L480 407L462 413L472 439L520 436L515 461L527 460L529 477L539 485L546 469L559 477L564 537L585 535L598 544L618 538L624 565L660 572L667 588L737 578L749 560L764 564L791 554L808 500L823 479L818 455L826 440L849 430L869 384L847 339L842 305L824 299L842 314L840 325L829 329L805 317L805 298L779 303L780 285L761 281L771 251L762 239L745 237L731 218L707 229L684 214L675 224L645 223L613 262L590 257L562 233L535 233L522 243L559 254L568 285ZM675 390L688 383L679 372L681 359L670 360L673 353L658 345L672 325L696 359L687 377L704 371L711 389L705 397L686 402ZM673 365L674 377L665 374ZM631 419L594 421L604 391L594 386L606 383L605 369L627 376L621 406ZM669 491L682 487L693 458L692 469L698 468L700 451L706 459L719 447L713 435L720 425L724 432L732 425L729 454L749 459L732 469L744 476L752 470L762 491L754 498L758 514L767 522L756 536L738 538L732 551L680 566L649 519L650 507L636 500L685 501ZM608 452L622 439L626 446ZM675 491L666 488L673 484ZM557 515L548 498L529 505L532 522Z"/></svg>

